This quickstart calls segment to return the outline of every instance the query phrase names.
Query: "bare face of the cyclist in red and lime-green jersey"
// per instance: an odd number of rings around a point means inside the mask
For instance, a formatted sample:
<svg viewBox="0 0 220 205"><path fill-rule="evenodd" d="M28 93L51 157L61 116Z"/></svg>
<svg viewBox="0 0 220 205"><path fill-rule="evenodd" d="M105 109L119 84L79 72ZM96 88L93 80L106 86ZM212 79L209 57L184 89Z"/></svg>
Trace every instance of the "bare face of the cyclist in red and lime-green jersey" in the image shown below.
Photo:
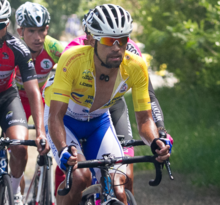
<svg viewBox="0 0 220 205"><path fill-rule="evenodd" d="M41 51L49 26L22 28L22 36L27 46L33 51Z"/></svg>

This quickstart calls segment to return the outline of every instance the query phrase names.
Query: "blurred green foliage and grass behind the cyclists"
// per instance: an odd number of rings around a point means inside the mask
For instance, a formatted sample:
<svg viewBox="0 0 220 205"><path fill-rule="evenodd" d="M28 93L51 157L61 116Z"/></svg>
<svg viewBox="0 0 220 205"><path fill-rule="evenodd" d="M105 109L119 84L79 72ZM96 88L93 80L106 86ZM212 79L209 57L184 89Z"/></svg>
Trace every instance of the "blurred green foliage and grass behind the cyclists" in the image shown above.
<svg viewBox="0 0 220 205"><path fill-rule="evenodd" d="M25 0L9 0L10 32L15 10ZM165 126L174 138L174 173L197 187L220 188L220 1L215 0L35 0L51 14L49 35L67 45L82 35L90 8L113 3L133 18L131 39L149 64ZM131 93L126 95L133 135L139 138ZM150 154L136 148L136 155ZM152 169L135 165L136 170ZM175 174L174 174L175 175Z"/></svg>

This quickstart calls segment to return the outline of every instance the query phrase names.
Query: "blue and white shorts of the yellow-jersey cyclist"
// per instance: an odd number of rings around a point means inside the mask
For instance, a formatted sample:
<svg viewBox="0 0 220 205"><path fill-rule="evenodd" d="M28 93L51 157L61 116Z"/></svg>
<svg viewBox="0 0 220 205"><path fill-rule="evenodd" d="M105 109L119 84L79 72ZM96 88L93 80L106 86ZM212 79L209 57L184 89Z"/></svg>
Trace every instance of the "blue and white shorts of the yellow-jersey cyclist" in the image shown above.
<svg viewBox="0 0 220 205"><path fill-rule="evenodd" d="M48 116L49 107L45 105L44 109L44 123L47 135L47 140L49 142L52 153L58 165L60 165L60 160L58 157L58 151L50 137L48 132ZM86 160L91 159L102 159L102 155L106 153L111 153L115 157L124 156L121 144L116 136L114 127L112 125L109 113L104 113L100 117L94 118L88 121L75 120L69 116L64 116L64 126L66 130L66 144L68 146L73 145L77 149L78 154L85 156ZM83 143L83 152L79 143L80 139L86 139ZM116 172L126 174L126 165L115 165L113 169L110 169L110 173ZM96 178L99 181L101 177L100 169L94 168L96 173Z"/></svg>

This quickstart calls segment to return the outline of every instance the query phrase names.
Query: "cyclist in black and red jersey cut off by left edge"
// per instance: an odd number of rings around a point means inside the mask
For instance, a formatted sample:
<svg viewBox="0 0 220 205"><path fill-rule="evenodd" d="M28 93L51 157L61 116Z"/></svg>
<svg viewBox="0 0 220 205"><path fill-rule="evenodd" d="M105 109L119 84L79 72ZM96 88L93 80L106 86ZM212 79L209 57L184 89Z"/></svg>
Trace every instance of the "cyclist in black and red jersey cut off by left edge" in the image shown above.
<svg viewBox="0 0 220 205"><path fill-rule="evenodd" d="M28 139L27 120L14 82L15 66L19 66L36 125L38 151L44 154L49 147L46 145L46 149L42 151L39 144L40 139L45 139L45 130L37 76L25 43L7 32L10 16L10 3L0 0L0 126L10 139ZM11 147L11 181L16 205L22 204L19 183L27 157L25 146Z"/></svg>

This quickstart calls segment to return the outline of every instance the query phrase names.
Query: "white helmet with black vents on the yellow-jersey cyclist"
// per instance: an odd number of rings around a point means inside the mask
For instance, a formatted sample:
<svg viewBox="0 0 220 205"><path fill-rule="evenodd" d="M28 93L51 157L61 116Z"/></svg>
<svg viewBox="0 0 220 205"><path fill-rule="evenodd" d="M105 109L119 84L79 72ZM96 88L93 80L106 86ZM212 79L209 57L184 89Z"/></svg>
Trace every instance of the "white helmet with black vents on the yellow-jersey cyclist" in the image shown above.
<svg viewBox="0 0 220 205"><path fill-rule="evenodd" d="M94 37L124 37L132 32L132 18L121 6L103 4L89 13L86 27Z"/></svg>

